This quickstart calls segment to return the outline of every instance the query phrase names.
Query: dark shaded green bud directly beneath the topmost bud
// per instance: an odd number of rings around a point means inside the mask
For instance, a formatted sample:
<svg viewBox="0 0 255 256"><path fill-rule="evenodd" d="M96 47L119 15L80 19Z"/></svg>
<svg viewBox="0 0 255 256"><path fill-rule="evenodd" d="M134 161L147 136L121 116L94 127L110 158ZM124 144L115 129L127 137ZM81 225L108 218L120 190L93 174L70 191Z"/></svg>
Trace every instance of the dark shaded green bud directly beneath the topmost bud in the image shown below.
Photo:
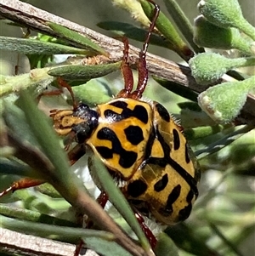
<svg viewBox="0 0 255 256"><path fill-rule="evenodd" d="M239 49L242 53L252 55L252 43L241 37L240 32L234 28L224 28L213 25L200 15L195 19L194 42L202 47L219 49Z"/></svg>

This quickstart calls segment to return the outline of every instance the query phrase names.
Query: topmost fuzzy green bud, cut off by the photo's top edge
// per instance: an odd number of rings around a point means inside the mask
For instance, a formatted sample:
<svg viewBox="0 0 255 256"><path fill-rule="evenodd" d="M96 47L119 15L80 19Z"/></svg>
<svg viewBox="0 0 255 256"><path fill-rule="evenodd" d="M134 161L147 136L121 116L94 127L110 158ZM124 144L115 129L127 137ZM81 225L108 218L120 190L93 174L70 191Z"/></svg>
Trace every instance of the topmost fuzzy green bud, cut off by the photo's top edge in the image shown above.
<svg viewBox="0 0 255 256"><path fill-rule="evenodd" d="M244 19L237 0L201 0L198 9L212 24L236 27L255 40L255 28Z"/></svg>

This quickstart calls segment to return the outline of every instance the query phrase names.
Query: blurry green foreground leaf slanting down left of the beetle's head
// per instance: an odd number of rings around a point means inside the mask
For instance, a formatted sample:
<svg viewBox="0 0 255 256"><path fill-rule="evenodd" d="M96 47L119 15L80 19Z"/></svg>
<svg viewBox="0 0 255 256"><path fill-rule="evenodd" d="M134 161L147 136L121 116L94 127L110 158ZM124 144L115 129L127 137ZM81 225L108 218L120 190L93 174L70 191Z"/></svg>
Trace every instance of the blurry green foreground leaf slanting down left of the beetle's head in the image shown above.
<svg viewBox="0 0 255 256"><path fill-rule="evenodd" d="M82 181L77 179L76 174L70 172L67 156L59 146L59 137L50 125L49 119L38 110L27 91L20 92L19 105L42 151L54 165L55 170L48 169L48 173L44 173L45 179L49 182L53 180L54 185L59 185L61 190L68 191L66 194L71 197L78 193L77 187L86 191ZM37 171L40 172L40 168Z"/></svg>

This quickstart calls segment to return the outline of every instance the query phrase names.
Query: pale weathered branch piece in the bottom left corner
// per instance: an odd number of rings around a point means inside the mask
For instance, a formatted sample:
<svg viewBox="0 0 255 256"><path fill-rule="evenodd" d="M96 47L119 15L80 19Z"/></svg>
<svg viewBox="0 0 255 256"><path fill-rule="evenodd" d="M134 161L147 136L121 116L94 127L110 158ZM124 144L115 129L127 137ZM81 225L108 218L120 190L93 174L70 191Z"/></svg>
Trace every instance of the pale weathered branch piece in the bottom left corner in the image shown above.
<svg viewBox="0 0 255 256"><path fill-rule="evenodd" d="M38 236L21 234L16 231L0 228L0 253L22 256L70 256L74 255L76 246L70 243L57 242ZM82 251L82 253L84 253ZM99 256L87 249L83 256Z"/></svg>

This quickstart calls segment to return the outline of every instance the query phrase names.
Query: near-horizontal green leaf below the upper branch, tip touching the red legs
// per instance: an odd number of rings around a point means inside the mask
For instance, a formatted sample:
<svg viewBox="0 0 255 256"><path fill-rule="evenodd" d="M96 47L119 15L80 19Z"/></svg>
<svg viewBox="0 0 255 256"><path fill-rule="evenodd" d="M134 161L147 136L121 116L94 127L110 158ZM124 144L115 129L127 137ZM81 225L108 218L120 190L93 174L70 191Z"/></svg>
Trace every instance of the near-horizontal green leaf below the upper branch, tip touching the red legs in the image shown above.
<svg viewBox="0 0 255 256"><path fill-rule="evenodd" d="M48 75L66 80L89 80L120 70L121 65L122 61L103 65L66 65L51 69Z"/></svg>

